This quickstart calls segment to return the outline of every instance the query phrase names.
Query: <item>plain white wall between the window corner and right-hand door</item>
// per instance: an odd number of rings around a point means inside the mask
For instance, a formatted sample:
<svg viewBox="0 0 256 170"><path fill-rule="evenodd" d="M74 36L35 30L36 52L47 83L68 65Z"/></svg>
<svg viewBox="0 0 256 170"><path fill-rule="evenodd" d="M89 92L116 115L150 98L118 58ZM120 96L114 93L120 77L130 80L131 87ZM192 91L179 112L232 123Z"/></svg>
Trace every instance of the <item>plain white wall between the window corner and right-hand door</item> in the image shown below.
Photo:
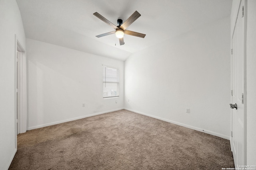
<svg viewBox="0 0 256 170"><path fill-rule="evenodd" d="M229 139L230 18L131 55L124 72L125 108Z"/></svg>

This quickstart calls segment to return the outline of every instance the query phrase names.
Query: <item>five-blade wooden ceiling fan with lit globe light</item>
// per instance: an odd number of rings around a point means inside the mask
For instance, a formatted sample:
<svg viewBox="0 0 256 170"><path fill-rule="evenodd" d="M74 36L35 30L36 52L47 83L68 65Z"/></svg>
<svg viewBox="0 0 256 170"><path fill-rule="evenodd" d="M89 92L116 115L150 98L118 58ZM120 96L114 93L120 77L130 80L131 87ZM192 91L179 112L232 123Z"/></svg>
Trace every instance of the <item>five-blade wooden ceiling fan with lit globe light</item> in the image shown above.
<svg viewBox="0 0 256 170"><path fill-rule="evenodd" d="M104 18L98 12L95 12L93 15L98 17L100 20L102 20L103 22L110 25L111 27L113 27L116 30L116 31L96 35L96 37L98 37L98 38L116 33L116 37L119 38L120 45L124 45L124 34L141 37L141 38L144 38L146 36L146 34L137 33L137 32L129 31L126 29L128 26L130 26L135 20L137 20L141 16L140 13L138 13L137 11L135 11L126 21L124 21L124 23L123 23L123 20L118 19L117 20L117 23L119 24L118 26L116 26L113 23L111 23L110 21L108 21L106 18Z"/></svg>

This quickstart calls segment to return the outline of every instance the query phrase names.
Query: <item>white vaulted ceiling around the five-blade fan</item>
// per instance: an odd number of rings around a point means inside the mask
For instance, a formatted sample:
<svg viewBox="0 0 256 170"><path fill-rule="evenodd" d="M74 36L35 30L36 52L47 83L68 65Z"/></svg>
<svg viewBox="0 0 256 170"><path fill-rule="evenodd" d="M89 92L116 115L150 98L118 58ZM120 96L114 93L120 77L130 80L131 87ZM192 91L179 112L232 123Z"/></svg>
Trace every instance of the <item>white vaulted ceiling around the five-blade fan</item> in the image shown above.
<svg viewBox="0 0 256 170"><path fill-rule="evenodd" d="M232 0L16 0L27 38L94 55L125 61L132 53L202 25L230 16ZM124 36L120 46L112 23L123 22L135 11L141 16L127 29L146 34ZM115 45L116 44L116 45Z"/></svg>

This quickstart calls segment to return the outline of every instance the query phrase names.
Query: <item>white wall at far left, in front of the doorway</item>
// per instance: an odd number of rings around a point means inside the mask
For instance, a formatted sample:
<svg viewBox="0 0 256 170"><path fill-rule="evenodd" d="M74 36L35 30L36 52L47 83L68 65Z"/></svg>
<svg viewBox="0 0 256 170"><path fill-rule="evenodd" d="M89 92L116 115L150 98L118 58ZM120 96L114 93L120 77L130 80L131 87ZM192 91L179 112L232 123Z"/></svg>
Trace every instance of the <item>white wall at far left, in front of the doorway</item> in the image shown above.
<svg viewBox="0 0 256 170"><path fill-rule="evenodd" d="M15 34L25 49L25 33L15 0L0 0L0 169L8 169L15 144Z"/></svg>

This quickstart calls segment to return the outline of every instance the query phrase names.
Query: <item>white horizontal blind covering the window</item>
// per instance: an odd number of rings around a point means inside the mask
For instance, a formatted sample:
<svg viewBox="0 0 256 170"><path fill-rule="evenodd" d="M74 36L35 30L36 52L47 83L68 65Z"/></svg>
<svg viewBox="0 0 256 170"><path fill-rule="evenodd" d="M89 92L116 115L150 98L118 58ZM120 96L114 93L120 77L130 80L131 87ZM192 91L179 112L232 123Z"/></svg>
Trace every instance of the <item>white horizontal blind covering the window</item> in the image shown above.
<svg viewBox="0 0 256 170"><path fill-rule="evenodd" d="M119 96L119 69L103 66L103 98Z"/></svg>

